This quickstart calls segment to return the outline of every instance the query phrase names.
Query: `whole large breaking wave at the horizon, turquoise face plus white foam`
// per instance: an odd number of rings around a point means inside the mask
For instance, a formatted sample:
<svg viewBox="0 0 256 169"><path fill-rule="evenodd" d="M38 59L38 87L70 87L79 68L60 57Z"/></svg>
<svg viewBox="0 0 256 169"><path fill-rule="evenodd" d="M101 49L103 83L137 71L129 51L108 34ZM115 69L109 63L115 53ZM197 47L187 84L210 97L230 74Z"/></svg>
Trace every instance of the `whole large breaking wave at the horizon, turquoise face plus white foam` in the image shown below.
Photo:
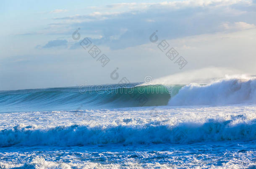
<svg viewBox="0 0 256 169"><path fill-rule="evenodd" d="M0 91L0 112L256 103L255 78L226 78L207 85L130 83L98 87L84 92L78 87Z"/></svg>

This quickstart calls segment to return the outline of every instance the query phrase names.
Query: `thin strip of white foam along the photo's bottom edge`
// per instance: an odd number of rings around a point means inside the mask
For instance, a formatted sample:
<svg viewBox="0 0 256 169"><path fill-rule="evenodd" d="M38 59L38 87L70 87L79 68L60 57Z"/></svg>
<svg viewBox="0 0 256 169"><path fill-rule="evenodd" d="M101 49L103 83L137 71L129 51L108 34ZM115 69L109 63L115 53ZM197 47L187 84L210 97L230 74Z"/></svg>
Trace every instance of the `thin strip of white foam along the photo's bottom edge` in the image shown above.
<svg viewBox="0 0 256 169"><path fill-rule="evenodd" d="M240 160L236 160L240 161ZM193 159L187 163L178 163L175 166L171 164L159 164L158 162L155 163L147 163L147 164L140 164L136 161L133 162L124 162L121 164L100 164L96 162L83 162L81 164L76 164L73 162L65 163L65 162L53 162L47 161L43 158L35 158L31 162L27 162L25 164L13 164L13 163L3 163L0 162L1 169L144 169L144 168L160 168L160 169L170 169L170 168L188 168L188 165L194 166L195 163L198 163L196 159ZM195 166L197 169L201 168L210 168L210 169L240 169L240 168L248 168L248 169L255 169L256 164L248 163L248 164L236 164L235 159L224 163L222 166L214 166L214 165L206 165L204 163Z"/></svg>

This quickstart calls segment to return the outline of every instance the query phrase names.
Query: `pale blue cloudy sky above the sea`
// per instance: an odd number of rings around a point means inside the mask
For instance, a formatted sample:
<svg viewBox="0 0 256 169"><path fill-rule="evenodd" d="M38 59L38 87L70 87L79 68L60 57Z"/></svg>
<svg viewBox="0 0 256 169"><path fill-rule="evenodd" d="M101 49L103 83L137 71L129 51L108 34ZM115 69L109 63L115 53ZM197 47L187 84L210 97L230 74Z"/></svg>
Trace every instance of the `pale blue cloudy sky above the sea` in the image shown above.
<svg viewBox="0 0 256 169"><path fill-rule="evenodd" d="M0 90L118 83L117 67L131 82L208 67L256 72L255 0L2 0L0 18ZM110 58L106 66L80 46L85 37ZM161 40L186 59L183 69Z"/></svg>

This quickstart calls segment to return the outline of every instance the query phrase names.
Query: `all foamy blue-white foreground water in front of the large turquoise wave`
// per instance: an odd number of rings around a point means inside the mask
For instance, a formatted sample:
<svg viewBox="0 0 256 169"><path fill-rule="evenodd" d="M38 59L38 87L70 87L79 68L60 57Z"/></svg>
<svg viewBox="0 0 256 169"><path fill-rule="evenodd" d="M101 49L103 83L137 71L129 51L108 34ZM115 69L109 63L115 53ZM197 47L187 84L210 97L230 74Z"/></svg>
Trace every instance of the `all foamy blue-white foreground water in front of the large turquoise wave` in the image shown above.
<svg viewBox="0 0 256 169"><path fill-rule="evenodd" d="M240 104L1 113L0 168L253 169L255 110Z"/></svg>

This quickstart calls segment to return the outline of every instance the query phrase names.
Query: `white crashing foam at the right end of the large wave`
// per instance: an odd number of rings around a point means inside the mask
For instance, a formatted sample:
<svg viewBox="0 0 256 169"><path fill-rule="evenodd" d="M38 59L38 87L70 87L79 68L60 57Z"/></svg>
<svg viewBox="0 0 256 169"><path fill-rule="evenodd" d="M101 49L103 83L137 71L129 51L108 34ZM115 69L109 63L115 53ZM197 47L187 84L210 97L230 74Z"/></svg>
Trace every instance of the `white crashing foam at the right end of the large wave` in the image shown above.
<svg viewBox="0 0 256 169"><path fill-rule="evenodd" d="M256 79L224 79L209 85L190 84L180 89L169 105L227 105L256 103Z"/></svg>

